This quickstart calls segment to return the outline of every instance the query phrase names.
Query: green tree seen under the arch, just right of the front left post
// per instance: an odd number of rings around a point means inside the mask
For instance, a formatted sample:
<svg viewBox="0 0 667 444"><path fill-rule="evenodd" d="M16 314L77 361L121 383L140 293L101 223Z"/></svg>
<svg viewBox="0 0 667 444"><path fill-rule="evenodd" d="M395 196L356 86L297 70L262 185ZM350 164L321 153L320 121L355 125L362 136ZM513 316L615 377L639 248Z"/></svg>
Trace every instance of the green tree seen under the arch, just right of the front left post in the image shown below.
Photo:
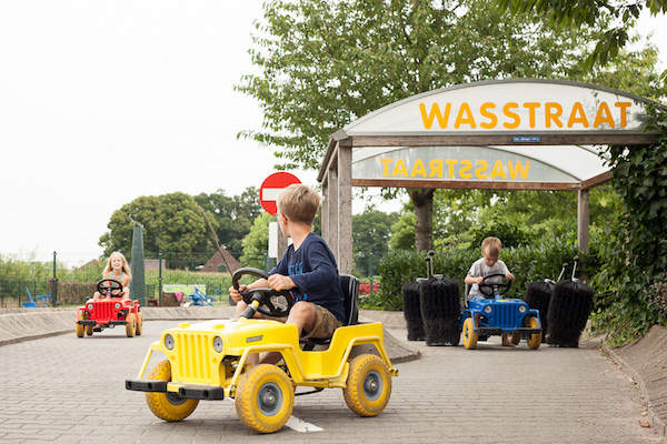
<svg viewBox="0 0 667 444"><path fill-rule="evenodd" d="M352 244L356 274L370 275L369 261L372 271L378 270L380 259L387 255L391 222L396 214L367 208L362 213L352 216Z"/></svg>

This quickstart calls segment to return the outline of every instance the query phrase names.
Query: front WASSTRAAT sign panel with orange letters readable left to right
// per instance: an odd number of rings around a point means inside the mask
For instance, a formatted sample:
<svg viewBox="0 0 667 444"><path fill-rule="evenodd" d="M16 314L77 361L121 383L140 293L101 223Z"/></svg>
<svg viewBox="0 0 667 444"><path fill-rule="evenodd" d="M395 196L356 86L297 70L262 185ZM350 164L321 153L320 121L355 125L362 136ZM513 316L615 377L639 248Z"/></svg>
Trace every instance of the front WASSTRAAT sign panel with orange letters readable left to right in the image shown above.
<svg viewBox="0 0 667 444"><path fill-rule="evenodd" d="M593 85L591 85L593 87ZM644 102L579 83L517 80L429 91L375 111L348 135L640 130Z"/></svg>

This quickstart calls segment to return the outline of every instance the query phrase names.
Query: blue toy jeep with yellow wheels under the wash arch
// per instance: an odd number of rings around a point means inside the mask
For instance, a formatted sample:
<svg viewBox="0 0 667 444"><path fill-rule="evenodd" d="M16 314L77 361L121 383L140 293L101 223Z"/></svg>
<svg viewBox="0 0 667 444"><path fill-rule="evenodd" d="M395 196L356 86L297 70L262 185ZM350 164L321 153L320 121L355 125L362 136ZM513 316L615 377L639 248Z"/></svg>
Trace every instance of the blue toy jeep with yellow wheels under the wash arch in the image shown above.
<svg viewBox="0 0 667 444"><path fill-rule="evenodd" d="M482 336L502 333L511 334L511 342L516 345L521 337L532 350L539 349L542 339L539 312L530 310L528 304L520 299L500 299L509 290L511 281L495 283L491 279L505 278L502 274L491 274L479 284L480 293L486 297L479 301L469 301L461 316L461 332L464 346L468 350L477 346L477 341Z"/></svg>

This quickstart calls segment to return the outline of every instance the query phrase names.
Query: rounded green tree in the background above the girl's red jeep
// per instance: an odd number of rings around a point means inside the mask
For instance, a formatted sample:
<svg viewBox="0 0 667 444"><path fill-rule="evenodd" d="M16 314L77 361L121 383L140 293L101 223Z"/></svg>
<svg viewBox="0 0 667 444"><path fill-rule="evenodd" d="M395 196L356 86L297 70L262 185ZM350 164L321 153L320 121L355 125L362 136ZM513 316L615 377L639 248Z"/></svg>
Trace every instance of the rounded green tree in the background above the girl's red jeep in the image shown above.
<svg viewBox="0 0 667 444"><path fill-rule="evenodd" d="M133 221L143 225L147 255L157 251L171 252L167 256L169 268L195 268L208 259L202 253L212 254L201 208L189 194L140 196L116 210L107 224L109 231L99 240L104 255L120 251L130 258Z"/></svg>

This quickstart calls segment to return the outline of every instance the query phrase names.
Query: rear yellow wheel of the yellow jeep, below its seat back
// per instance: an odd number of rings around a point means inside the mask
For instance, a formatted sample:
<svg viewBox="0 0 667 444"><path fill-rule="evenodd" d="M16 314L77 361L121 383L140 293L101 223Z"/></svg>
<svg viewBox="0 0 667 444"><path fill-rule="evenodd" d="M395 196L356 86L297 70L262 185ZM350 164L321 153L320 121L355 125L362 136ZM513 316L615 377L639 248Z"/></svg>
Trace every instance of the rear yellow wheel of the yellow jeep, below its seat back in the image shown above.
<svg viewBox="0 0 667 444"><path fill-rule="evenodd" d="M361 354L350 362L345 403L359 416L379 415L391 396L391 376L379 356Z"/></svg>

